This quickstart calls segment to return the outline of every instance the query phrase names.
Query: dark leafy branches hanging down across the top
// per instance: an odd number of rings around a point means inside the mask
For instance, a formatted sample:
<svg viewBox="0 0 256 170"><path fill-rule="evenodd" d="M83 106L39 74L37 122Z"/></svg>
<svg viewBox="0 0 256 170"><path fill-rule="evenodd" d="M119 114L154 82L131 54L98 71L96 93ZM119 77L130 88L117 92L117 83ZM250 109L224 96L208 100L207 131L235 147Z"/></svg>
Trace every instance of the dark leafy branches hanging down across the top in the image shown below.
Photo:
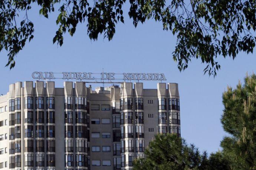
<svg viewBox="0 0 256 170"><path fill-rule="evenodd" d="M91 40L99 34L111 40L116 24L124 23L125 0L1 0L0 51L8 51L6 66L13 68L14 57L33 38L33 22L28 14L33 3L40 6L45 16L60 6L56 24L59 29L53 43L63 44L66 31L72 36L78 23L86 24ZM256 37L255 0L129 0L129 17L138 23L154 19L177 37L173 59L180 71L188 67L193 58L206 64L204 74L216 75L220 69L217 57L232 57L240 51L253 52ZM22 15L25 16L22 16ZM16 20L22 21L17 23Z"/></svg>

